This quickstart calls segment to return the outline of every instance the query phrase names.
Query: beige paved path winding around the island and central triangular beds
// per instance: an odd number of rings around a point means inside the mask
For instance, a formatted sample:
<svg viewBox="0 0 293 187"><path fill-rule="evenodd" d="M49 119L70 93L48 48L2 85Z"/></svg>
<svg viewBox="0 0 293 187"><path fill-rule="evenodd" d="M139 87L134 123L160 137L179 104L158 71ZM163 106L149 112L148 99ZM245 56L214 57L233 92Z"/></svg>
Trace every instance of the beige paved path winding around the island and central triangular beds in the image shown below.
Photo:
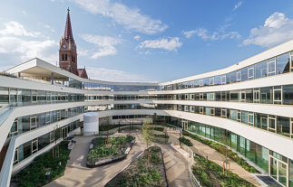
<svg viewBox="0 0 293 187"><path fill-rule="evenodd" d="M122 135L122 134L120 134ZM81 187L81 186L103 186L109 182L123 167L142 153L145 149L145 144L142 143L140 135L136 136L136 144L133 145L132 151L122 162L115 164L103 165L97 168L87 168L86 154L93 136L76 136L76 145L70 154L70 160L65 168L63 177L50 182L46 187ZM155 144L157 145L157 144ZM188 176L188 165L181 154L171 149L170 145L160 145L164 155L164 162L166 166L166 173L170 187L189 187L191 186Z"/></svg>

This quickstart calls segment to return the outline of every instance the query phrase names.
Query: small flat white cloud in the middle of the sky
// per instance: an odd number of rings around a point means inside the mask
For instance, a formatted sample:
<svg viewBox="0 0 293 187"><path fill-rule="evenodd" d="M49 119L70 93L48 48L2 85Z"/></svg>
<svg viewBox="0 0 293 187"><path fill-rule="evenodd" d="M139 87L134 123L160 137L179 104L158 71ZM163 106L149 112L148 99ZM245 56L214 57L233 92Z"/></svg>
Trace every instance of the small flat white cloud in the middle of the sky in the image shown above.
<svg viewBox="0 0 293 187"><path fill-rule="evenodd" d="M151 48L151 49L162 49L167 51L177 51L177 48L180 48L182 43L180 42L180 38L171 37L171 38L163 38L158 40L149 40L143 41L140 44L140 48Z"/></svg>

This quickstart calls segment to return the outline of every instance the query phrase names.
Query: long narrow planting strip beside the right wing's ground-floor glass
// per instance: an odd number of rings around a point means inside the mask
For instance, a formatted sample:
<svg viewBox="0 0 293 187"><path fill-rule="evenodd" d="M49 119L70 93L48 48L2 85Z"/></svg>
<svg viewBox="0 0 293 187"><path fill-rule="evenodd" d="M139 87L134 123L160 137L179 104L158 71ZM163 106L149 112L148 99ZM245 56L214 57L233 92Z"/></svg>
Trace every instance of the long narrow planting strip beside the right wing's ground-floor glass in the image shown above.
<svg viewBox="0 0 293 187"><path fill-rule="evenodd" d="M243 158L239 157L238 154L231 151L229 148L227 148L225 145L221 145L219 143L204 139L200 136L190 134L189 132L183 131L183 136L190 136L192 139L199 141L200 143L204 145L209 145L211 148L216 149L220 154L224 154L232 160L235 163L239 164L243 169L248 171L249 173L259 173L259 171L254 168L253 166L249 165Z"/></svg>

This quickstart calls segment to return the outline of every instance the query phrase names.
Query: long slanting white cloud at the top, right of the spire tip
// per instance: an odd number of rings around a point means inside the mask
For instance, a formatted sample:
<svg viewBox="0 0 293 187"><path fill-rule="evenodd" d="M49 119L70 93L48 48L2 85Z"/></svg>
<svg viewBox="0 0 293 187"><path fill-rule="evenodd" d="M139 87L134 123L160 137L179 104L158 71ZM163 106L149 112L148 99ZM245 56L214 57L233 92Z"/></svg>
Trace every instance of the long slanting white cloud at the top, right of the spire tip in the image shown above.
<svg viewBox="0 0 293 187"><path fill-rule="evenodd" d="M112 18L115 23L121 24L127 30L153 34L161 33L168 27L160 20L141 14L139 9L129 8L121 3L112 3L110 0L73 0L73 2L90 13Z"/></svg>

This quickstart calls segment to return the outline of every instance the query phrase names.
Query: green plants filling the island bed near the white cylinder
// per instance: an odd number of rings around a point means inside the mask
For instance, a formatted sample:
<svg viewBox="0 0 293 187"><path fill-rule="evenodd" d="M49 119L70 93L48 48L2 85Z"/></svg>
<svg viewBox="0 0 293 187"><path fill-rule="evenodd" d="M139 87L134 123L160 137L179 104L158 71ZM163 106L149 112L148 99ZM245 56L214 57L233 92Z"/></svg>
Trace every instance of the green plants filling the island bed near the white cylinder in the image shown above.
<svg viewBox="0 0 293 187"><path fill-rule="evenodd" d="M93 165L104 159L123 156L133 139L133 136L94 138L93 149L87 155L87 164Z"/></svg>

